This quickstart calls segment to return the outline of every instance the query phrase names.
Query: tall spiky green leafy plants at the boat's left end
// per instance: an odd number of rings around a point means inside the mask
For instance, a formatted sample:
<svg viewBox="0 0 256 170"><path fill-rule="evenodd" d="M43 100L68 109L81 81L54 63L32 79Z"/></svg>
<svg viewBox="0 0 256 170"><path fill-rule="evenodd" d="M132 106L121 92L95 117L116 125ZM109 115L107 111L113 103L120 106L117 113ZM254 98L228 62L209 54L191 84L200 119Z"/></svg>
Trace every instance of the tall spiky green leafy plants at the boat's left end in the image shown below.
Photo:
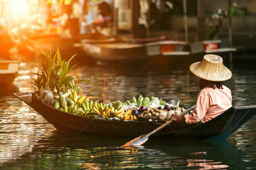
<svg viewBox="0 0 256 170"><path fill-rule="evenodd" d="M77 86L78 82L90 84L90 80L88 78L79 79L75 83L75 76L67 76L68 72L77 65L71 62L76 54L73 55L68 61L65 61L65 59L61 59L59 48L57 48L57 52L53 58L51 56L51 50L50 54L46 53L42 49L41 51L46 57L46 62L41 60L41 67L28 61L39 68L37 73L32 73L37 75L37 79L32 78L34 82L31 83L33 84L32 86L34 88L34 92L38 94L38 96L41 96L43 91L49 90L53 93L54 97L60 93L63 93L65 97L68 97L68 95L74 91L77 91L77 93L82 93L82 89ZM68 92L69 89L71 89L70 92Z"/></svg>

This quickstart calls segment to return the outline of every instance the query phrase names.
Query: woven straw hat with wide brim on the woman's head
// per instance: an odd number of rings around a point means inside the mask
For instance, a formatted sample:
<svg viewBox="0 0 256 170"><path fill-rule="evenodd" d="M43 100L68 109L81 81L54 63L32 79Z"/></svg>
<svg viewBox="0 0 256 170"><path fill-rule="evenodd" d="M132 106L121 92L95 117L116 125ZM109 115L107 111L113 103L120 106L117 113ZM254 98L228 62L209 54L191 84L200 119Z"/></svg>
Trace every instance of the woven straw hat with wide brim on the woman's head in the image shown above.
<svg viewBox="0 0 256 170"><path fill-rule="evenodd" d="M189 69L194 75L210 81L225 81L232 77L222 58L214 54L205 55L201 62L191 64Z"/></svg>

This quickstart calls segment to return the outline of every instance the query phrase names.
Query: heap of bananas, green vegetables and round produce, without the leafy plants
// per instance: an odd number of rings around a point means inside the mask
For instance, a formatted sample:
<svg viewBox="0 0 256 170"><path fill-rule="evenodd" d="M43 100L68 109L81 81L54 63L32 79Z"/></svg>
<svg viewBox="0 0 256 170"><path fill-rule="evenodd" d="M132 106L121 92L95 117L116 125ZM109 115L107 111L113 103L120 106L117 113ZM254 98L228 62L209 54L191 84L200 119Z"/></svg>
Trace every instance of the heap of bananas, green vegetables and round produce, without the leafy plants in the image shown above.
<svg viewBox="0 0 256 170"><path fill-rule="evenodd" d="M105 101L93 102L93 100L86 98L86 95L78 96L76 91L69 92L68 97L64 96L67 95L60 93L56 100L51 100L49 105L70 114L89 118L100 116L129 121L138 120L138 118L142 118L143 116L158 116L159 119L164 120L170 114L179 114L182 112L182 109L183 111L185 110L184 108L171 107L162 99L159 100L158 97L153 96L144 98L140 95L138 99L133 96L132 102L127 100L124 103L119 100L112 103L106 103ZM147 106L149 108L146 108ZM150 108L153 106L158 107Z"/></svg>

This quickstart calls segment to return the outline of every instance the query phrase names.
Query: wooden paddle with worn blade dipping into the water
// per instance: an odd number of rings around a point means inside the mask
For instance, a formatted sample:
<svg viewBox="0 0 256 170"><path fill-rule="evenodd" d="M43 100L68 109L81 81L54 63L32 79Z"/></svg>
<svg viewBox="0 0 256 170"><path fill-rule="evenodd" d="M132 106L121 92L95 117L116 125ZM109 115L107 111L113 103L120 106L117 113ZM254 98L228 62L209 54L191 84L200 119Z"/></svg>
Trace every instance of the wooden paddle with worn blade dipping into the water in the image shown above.
<svg viewBox="0 0 256 170"><path fill-rule="evenodd" d="M196 105L193 105L191 108L188 108L187 110L185 110L184 112L180 113L179 116L183 116L186 113L190 112L192 109L195 108ZM148 134L143 134L139 137L136 137L134 139L132 139L131 141L127 142L126 144L122 145L121 147L127 147L127 146L139 146L142 145L143 143L145 143L149 137L156 133L157 131L159 131L160 129L163 129L165 126L167 126L168 124L170 124L172 122L172 120L167 121L166 123L162 124L161 126L159 126L158 128L154 129L153 131L149 132Z"/></svg>

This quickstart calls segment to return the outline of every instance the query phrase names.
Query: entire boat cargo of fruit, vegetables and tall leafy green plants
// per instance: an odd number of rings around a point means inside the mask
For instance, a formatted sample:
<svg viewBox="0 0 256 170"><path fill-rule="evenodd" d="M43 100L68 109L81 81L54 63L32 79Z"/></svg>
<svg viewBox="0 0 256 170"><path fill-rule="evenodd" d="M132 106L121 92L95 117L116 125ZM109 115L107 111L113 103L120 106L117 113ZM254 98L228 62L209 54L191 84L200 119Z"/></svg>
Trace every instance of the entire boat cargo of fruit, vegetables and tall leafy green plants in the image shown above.
<svg viewBox="0 0 256 170"><path fill-rule="evenodd" d="M32 73L37 78L32 78L31 84L34 87L35 96L56 109L89 118L100 116L130 121L143 116L159 116L163 119L162 115L165 113L167 115L170 110L175 110L175 107L179 108L179 102L171 101L172 103L168 104L153 96L144 98L140 95L138 99L133 96L132 101L127 100L124 103L119 100L112 103L93 102L85 95L78 96L77 93L82 93L82 89L77 86L77 83L90 83L90 80L83 78L74 82L76 77L68 76L68 72L76 65L72 65L71 62L75 55L65 61L65 59L62 60L59 49L54 57L51 56L51 52L47 53L43 50L42 52L46 56L46 61L41 61L41 67L32 63L39 69L37 73Z"/></svg>

